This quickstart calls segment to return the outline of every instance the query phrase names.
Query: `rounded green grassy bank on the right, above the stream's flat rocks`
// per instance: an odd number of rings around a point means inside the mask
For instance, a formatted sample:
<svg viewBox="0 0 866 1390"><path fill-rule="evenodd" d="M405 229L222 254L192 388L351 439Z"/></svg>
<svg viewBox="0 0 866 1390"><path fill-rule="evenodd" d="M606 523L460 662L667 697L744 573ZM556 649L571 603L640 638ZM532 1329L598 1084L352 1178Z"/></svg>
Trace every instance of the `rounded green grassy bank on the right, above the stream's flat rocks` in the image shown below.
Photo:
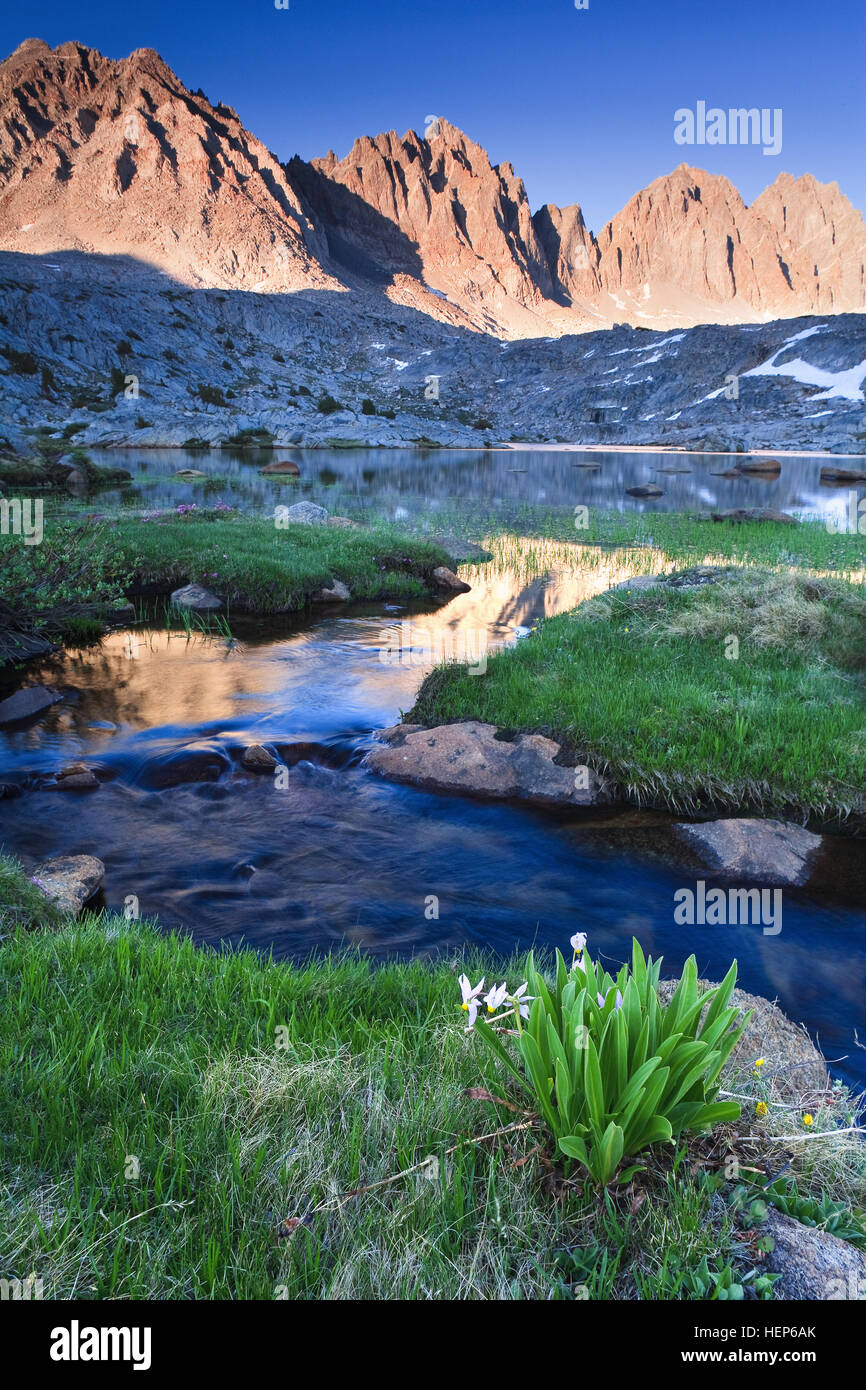
<svg viewBox="0 0 866 1390"><path fill-rule="evenodd" d="M632 799L674 809L862 815L866 598L760 570L614 589L545 621L484 677L438 669L407 719L542 730Z"/></svg>

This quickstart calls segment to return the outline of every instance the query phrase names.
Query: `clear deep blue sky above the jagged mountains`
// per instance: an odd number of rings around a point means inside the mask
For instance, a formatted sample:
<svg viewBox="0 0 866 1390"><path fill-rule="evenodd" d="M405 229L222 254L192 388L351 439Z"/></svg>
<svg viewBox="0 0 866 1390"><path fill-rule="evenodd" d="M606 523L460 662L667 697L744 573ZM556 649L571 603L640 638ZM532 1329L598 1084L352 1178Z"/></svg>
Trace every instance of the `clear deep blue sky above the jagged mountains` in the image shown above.
<svg viewBox="0 0 866 1390"><path fill-rule="evenodd" d="M443 115L510 160L530 203L580 203L599 231L685 160L746 203L777 174L838 181L866 208L863 0L40 0L0 17L0 47L78 39L157 49L189 88L235 107L281 158ZM24 7L22 7L24 10ZM684 147L674 111L780 107L783 149Z"/></svg>

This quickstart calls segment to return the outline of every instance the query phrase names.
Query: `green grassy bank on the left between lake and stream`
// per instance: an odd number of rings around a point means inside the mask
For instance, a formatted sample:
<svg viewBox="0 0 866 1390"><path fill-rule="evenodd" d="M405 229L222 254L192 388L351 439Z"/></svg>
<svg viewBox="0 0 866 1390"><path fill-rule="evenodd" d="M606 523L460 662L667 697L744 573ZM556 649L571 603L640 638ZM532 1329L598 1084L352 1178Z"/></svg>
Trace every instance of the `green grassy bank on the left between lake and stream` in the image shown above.
<svg viewBox="0 0 866 1390"><path fill-rule="evenodd" d="M44 530L35 546L0 537L0 664L17 660L21 638L81 638L82 624L101 631L126 591L204 584L229 609L265 616L306 607L332 580L357 600L423 598L431 571L448 563L442 549L393 525L278 530L272 517L215 509L99 524L51 510Z"/></svg>

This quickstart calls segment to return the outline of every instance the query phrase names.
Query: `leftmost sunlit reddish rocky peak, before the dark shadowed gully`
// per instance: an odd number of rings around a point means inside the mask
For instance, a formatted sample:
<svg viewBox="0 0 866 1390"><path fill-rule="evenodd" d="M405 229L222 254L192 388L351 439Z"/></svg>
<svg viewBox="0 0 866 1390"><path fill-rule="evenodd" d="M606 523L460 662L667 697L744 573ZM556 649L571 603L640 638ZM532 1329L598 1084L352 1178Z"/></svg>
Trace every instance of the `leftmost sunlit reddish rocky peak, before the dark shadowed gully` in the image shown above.
<svg viewBox="0 0 866 1390"><path fill-rule="evenodd" d="M153 49L114 61L28 40L0 65L8 250L132 256L188 284L332 282L277 158Z"/></svg>

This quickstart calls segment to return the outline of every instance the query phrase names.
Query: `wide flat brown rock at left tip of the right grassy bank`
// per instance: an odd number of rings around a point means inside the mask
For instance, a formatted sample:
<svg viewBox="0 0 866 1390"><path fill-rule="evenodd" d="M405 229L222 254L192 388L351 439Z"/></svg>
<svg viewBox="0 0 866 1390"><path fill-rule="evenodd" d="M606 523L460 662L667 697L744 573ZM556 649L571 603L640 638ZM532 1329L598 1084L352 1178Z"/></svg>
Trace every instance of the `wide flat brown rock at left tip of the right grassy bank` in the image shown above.
<svg viewBox="0 0 866 1390"><path fill-rule="evenodd" d="M542 734L498 737L495 724L470 720L421 728L396 724L364 763L382 777L425 791L467 792L548 806L592 806L605 787L589 769L555 763L559 744Z"/></svg>

